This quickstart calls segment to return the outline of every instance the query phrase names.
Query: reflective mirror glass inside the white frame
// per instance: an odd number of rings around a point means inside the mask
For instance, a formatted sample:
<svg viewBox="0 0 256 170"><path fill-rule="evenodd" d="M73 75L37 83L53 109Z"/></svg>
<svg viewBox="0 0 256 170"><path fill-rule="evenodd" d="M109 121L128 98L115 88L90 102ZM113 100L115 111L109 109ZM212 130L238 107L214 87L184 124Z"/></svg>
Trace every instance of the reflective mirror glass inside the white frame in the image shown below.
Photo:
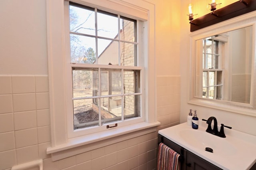
<svg viewBox="0 0 256 170"><path fill-rule="evenodd" d="M250 103L252 26L196 40L195 97Z"/></svg>

